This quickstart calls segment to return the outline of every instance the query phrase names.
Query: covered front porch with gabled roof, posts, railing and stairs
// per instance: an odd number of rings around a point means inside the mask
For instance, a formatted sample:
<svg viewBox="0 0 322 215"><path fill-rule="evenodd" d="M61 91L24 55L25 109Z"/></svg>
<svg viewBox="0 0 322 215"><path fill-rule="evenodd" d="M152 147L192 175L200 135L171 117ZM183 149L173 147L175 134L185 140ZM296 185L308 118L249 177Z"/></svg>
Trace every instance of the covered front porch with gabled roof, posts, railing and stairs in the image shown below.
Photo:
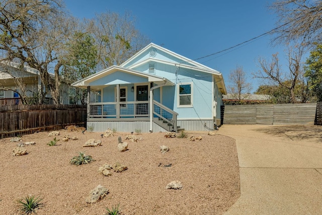
<svg viewBox="0 0 322 215"><path fill-rule="evenodd" d="M112 66L73 86L88 91L88 124L113 122L116 126L115 123L120 122L126 127L133 122L145 122L149 123L150 132L155 126L177 131L178 113L162 104L163 87L175 88L175 84L165 78Z"/></svg>

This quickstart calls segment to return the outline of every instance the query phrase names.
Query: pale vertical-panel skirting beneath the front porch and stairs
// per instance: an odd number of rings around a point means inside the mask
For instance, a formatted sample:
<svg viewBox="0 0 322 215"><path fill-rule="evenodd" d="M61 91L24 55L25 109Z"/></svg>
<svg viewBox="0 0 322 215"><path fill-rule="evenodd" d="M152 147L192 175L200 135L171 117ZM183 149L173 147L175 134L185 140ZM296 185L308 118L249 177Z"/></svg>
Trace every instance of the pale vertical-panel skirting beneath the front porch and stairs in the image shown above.
<svg viewBox="0 0 322 215"><path fill-rule="evenodd" d="M93 127L94 132L104 132L108 128L115 129L120 132L135 132L135 130L140 130L142 133L148 133L150 130L149 121L88 121L87 129ZM164 128L153 122L152 124L153 132L167 132Z"/></svg>

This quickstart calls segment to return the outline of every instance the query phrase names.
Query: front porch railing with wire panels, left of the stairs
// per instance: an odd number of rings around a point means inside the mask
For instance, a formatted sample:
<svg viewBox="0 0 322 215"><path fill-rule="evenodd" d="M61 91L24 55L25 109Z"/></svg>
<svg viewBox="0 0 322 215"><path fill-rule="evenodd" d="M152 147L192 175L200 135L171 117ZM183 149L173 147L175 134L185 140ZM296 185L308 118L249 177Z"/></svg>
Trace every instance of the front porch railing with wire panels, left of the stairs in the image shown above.
<svg viewBox="0 0 322 215"><path fill-rule="evenodd" d="M147 101L90 103L90 118L122 118L149 116L149 103Z"/></svg>

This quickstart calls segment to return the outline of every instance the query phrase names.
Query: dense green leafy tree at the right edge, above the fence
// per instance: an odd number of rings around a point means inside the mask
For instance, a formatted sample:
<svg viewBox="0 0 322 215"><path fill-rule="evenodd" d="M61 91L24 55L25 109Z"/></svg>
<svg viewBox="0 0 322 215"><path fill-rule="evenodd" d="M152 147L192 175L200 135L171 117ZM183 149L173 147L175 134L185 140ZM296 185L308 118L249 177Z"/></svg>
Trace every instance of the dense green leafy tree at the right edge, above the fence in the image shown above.
<svg viewBox="0 0 322 215"><path fill-rule="evenodd" d="M322 101L322 44L317 44L306 59L305 77L310 89L317 96L317 101Z"/></svg>

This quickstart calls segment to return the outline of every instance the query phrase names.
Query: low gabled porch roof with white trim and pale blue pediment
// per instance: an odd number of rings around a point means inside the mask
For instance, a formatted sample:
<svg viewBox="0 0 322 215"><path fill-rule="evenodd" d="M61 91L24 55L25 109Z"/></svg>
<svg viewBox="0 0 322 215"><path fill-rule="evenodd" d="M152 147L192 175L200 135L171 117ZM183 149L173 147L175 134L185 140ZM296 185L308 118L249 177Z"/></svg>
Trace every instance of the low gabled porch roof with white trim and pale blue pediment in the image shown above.
<svg viewBox="0 0 322 215"><path fill-rule="evenodd" d="M88 86L91 86L91 89L93 90L100 90L109 85L145 82L153 82L157 85L160 85L164 84L165 81L167 83L166 86L175 85L173 82L162 77L142 73L133 69L123 68L121 66L111 66L71 85L73 87L84 89L86 89Z"/></svg>

